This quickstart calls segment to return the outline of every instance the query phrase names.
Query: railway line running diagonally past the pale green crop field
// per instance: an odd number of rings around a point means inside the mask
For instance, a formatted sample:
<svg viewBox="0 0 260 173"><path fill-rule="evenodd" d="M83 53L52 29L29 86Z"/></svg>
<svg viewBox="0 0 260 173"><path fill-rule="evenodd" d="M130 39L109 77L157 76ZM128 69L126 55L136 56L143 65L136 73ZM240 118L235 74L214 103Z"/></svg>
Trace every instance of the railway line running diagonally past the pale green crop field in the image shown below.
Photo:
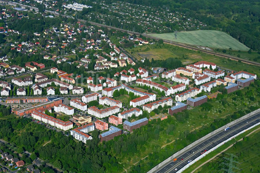
<svg viewBox="0 0 260 173"><path fill-rule="evenodd" d="M29 7L30 9L34 9L35 11L38 11L38 8L36 7L32 7L32 6L29 6L29 5L24 5L24 4L20 4L20 3L16 3L16 2L10 2L10 1L7 1L7 0L0 0L0 2L2 3L8 3L10 5L20 5L22 7ZM62 14L59 14L55 11L50 11L50 10L45 10L46 12L49 12L55 16L63 16L63 17L67 17L67 18L73 18L75 19L74 17L72 16L67 16L67 15L62 15ZM106 28L109 28L109 29L115 29L117 31L122 31L122 32L127 32L129 34L135 34L135 35L143 35L144 33L139 33L139 32L133 32L133 31L129 31L129 30L124 30L124 29L120 29L120 28L116 28L116 27L113 27L113 26L108 26L108 25L103 25L103 24L99 24L99 23L95 23L95 22L91 22L91 21L85 21L85 20L82 20L82 19L77 19L78 21L80 22L88 22L90 24L93 24L93 25L96 25L96 26L101 26L101 27L106 27ZM154 36L151 36L151 35L145 35L145 37L148 37L148 38L151 38L151 39L156 39L156 40L159 40L158 37L154 37ZM209 50L204 50L204 49L199 49L196 47L196 45L187 45L187 44L182 44L182 43L178 43L178 42L174 42L174 41L171 41L171 40L167 40L167 39L162 39L164 43L167 43L167 44L171 44L171 45L175 45L175 46L179 46L179 47L182 47L182 48L186 48L186 49L191 49L191 50L195 50L195 51L201 51L201 52L204 52L206 54L209 54L209 55L215 55L215 56L218 56L218 57L222 57L222 58L228 58L228 59L232 59L232 60L235 60L235 61L241 61L241 62L244 62L244 63L247 63L247 64L252 64L252 65L258 65L260 66L260 63L257 63L257 62L254 62L254 61L248 61L246 59L242 59L242 58L238 58L238 57L235 57L235 56L231 56L231 55L227 55L227 54L222 54L222 53L219 53L219 52L214 52L214 51L209 51Z"/></svg>

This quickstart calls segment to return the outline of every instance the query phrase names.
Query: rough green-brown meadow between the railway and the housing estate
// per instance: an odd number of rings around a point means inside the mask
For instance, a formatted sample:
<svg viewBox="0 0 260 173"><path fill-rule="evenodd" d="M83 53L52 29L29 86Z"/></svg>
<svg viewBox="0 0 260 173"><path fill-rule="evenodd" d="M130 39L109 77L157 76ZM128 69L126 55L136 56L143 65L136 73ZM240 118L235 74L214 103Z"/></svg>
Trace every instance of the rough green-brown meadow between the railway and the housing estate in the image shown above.
<svg viewBox="0 0 260 173"><path fill-rule="evenodd" d="M154 58L154 60L163 60L171 57L180 60L184 65L192 64L198 61L209 61L216 63L219 67L224 67L235 71L244 70L256 74L260 73L260 68L256 65L232 61L227 58L205 54L200 51L180 48L170 44L143 45L132 49L127 48L126 50L137 59L147 57L148 59ZM160 58L160 55L162 58Z"/></svg>

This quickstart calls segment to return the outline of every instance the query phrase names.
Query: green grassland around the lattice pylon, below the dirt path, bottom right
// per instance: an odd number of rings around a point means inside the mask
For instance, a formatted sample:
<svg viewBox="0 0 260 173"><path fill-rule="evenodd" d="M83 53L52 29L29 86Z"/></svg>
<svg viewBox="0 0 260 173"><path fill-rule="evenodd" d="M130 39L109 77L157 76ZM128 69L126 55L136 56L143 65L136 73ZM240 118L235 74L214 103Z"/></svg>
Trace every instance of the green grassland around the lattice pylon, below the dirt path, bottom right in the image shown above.
<svg viewBox="0 0 260 173"><path fill-rule="evenodd" d="M259 137L260 130L257 130L248 137L244 137L242 141L236 142L233 147L226 150L224 153L217 156L215 159L206 163L200 167L195 172L224 172L221 168L227 168L223 162L229 163L225 160L224 157L229 158L230 155L234 154L237 158L234 158L235 161L240 164L234 163L236 167L241 170L240 172L259 172L260 171L260 155L258 154L258 149L260 147ZM236 137L236 139L239 139ZM227 154L228 153L228 154ZM233 169L235 171L235 169Z"/></svg>

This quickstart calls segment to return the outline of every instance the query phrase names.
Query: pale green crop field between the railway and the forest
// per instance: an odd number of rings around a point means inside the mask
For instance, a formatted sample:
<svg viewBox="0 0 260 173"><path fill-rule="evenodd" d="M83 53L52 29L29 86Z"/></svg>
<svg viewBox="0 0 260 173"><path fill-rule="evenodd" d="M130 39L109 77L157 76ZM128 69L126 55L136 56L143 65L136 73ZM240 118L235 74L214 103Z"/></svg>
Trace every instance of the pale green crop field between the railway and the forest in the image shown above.
<svg viewBox="0 0 260 173"><path fill-rule="evenodd" d="M249 50L244 44L222 31L215 30L198 30L178 32L177 39L174 39L174 33L151 34L154 37L172 40L175 42L205 46L210 48L221 48L233 50Z"/></svg>

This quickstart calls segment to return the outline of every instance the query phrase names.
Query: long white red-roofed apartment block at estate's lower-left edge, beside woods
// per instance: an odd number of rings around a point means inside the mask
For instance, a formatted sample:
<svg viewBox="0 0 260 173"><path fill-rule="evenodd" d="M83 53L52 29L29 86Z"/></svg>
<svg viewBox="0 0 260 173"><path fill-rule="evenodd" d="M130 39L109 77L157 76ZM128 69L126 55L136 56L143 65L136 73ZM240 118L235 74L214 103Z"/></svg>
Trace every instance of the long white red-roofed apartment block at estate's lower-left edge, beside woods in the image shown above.
<svg viewBox="0 0 260 173"><path fill-rule="evenodd" d="M43 114L39 111L34 111L31 114L32 118L37 119L43 123L50 124L54 127L57 127L58 129L67 131L69 129L73 128L73 123L71 121L62 121L60 119L54 118L52 116L49 116L47 114Z"/></svg>

